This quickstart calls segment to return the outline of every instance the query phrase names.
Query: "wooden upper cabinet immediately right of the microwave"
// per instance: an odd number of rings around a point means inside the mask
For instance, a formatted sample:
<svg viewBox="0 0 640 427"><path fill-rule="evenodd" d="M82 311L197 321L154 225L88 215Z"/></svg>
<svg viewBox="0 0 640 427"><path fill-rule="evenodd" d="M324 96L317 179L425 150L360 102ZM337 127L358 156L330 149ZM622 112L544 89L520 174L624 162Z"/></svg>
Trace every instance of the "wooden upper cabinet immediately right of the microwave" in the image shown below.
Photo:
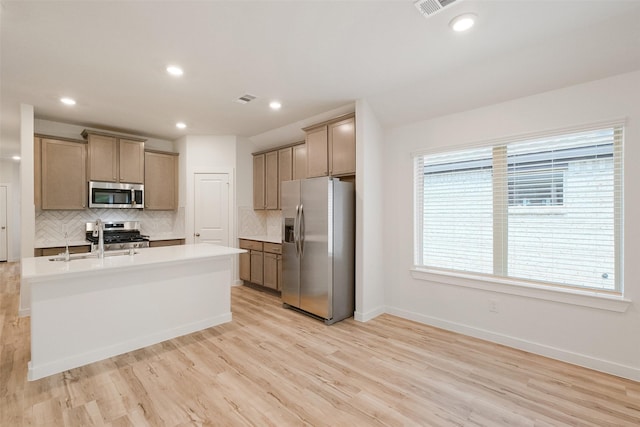
<svg viewBox="0 0 640 427"><path fill-rule="evenodd" d="M178 154L158 151L144 153L144 208L178 208Z"/></svg>

